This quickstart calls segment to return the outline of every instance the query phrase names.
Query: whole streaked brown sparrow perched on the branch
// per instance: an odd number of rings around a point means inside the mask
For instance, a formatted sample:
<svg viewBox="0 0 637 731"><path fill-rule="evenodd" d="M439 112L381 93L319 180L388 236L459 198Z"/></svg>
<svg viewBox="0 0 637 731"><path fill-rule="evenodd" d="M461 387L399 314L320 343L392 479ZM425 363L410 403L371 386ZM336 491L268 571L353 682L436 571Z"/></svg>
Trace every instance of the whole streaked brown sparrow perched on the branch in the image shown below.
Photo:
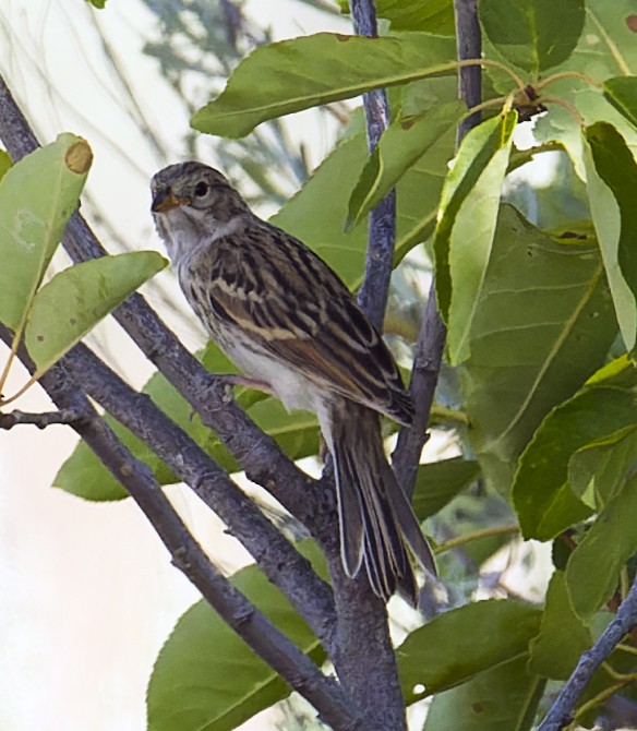
<svg viewBox="0 0 637 731"><path fill-rule="evenodd" d="M329 266L259 218L219 171L171 165L151 190L157 231L212 338L288 410L316 415L346 574L364 565L384 601L400 589L417 604L407 546L425 571L435 565L384 452L381 415L409 426L413 405L381 334Z"/></svg>

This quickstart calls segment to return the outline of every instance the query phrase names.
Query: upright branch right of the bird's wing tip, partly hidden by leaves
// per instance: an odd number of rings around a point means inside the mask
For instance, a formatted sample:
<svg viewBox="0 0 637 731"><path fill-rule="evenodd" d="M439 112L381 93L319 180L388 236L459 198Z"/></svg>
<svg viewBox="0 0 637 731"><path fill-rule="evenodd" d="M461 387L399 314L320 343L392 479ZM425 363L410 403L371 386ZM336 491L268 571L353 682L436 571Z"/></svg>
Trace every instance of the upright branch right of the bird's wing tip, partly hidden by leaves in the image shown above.
<svg viewBox="0 0 637 731"><path fill-rule="evenodd" d="M481 40L477 0L454 0L454 10L458 60L480 58ZM460 69L458 95L468 107L480 103L481 73L479 65ZM458 145L465 134L479 121L479 116L472 115L458 125ZM447 328L437 309L435 281L432 279L416 344L413 369L409 383L409 394L416 406L416 419L411 427L404 427L398 432L398 441L393 455L398 480L409 495L413 493L420 455L429 439L426 429L446 337Z"/></svg>

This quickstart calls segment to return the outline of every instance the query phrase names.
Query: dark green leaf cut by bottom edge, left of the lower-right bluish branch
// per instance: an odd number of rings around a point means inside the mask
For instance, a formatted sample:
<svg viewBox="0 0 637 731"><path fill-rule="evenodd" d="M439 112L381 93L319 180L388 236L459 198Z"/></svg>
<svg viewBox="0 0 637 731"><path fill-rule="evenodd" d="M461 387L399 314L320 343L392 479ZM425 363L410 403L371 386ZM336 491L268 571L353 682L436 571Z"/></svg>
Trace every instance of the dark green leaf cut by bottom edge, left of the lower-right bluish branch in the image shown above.
<svg viewBox="0 0 637 731"><path fill-rule="evenodd" d="M545 682L526 670L527 656L436 695L423 731L528 731Z"/></svg>

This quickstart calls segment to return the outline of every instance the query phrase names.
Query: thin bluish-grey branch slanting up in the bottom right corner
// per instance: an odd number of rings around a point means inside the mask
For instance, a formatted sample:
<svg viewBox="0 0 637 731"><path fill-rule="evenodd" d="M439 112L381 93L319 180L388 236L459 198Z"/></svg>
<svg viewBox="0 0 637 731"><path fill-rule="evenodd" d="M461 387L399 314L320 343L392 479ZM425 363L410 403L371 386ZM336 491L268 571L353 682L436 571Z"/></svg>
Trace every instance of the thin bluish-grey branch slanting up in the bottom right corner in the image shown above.
<svg viewBox="0 0 637 731"><path fill-rule="evenodd" d="M575 704L593 676L596 670L609 657L622 637L637 624L637 578L617 614L602 632L597 643L580 658L573 674L551 706L538 731L560 731L573 720Z"/></svg>

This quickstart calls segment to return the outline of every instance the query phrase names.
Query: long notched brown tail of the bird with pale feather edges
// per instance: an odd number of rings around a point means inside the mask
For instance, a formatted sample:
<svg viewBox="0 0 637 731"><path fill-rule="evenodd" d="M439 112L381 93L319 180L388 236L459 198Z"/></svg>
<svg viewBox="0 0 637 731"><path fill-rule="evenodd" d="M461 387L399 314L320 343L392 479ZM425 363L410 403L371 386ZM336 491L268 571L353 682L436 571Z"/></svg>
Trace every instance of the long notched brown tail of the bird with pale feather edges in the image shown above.
<svg viewBox="0 0 637 731"><path fill-rule="evenodd" d="M433 556L413 510L387 463L375 411L339 402L322 423L334 459L342 564L356 576L362 564L385 601L400 589L418 603L418 585L405 543L435 575Z"/></svg>

